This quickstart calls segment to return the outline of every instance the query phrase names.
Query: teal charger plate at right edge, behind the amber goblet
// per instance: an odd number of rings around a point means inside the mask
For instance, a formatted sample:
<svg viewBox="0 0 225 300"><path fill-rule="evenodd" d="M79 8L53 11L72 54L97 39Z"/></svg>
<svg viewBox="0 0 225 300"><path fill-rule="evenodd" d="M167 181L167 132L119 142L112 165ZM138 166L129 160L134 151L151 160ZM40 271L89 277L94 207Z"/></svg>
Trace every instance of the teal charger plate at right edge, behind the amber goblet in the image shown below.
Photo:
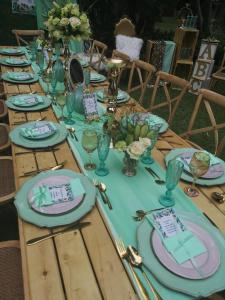
<svg viewBox="0 0 225 300"><path fill-rule="evenodd" d="M179 155L181 155L184 152L191 152L191 151L196 151L197 149L194 148L179 148L179 149L173 149L171 150L166 156L165 156L165 162L166 165L168 164L169 160L178 157ZM218 158L218 160L220 161L220 163L222 164L224 171L225 171L225 162ZM193 177L188 173L183 171L183 173L181 174L181 178L187 182L193 182ZM217 177L217 178L211 178L211 179L202 179L202 178L198 178L196 180L196 183L199 185L205 185L205 186L213 186L213 185L220 185L220 184L224 184L225 183L225 172L223 173L222 176Z"/></svg>

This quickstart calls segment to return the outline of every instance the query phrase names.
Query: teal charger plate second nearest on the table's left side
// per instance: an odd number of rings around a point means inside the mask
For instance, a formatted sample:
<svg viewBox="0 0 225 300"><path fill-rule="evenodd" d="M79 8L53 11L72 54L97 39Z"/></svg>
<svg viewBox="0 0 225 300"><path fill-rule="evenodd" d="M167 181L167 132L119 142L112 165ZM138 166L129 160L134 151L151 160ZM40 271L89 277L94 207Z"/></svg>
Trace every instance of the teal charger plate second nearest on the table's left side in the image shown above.
<svg viewBox="0 0 225 300"><path fill-rule="evenodd" d="M46 121L45 121L46 122ZM42 140L31 140L28 138L25 138L22 136L20 129L23 127L29 127L30 125L32 125L34 122L28 122L25 124L22 124L20 126L17 126L15 129L13 129L10 133L9 133L9 137L11 139L11 141L19 146L22 146L24 148L30 148L30 149L36 149L36 148L48 148L48 147L52 147L54 145L57 145L61 142L63 142L68 135L68 131L66 129L65 126L58 124L58 123L54 123L54 125L57 128L57 131L49 136L48 138L42 139Z"/></svg>

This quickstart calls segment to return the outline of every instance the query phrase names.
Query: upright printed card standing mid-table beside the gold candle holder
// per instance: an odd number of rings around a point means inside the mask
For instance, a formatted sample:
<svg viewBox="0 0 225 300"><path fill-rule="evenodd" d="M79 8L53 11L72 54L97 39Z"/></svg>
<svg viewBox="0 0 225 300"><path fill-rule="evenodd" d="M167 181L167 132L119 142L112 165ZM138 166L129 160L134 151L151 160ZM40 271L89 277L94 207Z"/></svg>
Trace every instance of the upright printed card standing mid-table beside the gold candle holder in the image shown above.
<svg viewBox="0 0 225 300"><path fill-rule="evenodd" d="M99 118L96 94L84 93L83 104L85 116L88 120L96 120Z"/></svg>

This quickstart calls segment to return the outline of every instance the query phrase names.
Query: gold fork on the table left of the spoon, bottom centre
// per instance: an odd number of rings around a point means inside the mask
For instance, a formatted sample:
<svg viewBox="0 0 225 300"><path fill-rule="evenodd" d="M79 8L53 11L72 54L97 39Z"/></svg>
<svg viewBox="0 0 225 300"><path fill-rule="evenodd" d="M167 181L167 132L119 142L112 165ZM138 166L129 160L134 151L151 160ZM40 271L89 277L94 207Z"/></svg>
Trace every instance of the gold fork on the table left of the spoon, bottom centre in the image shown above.
<svg viewBox="0 0 225 300"><path fill-rule="evenodd" d="M124 245L124 242L121 240L121 239L115 239L115 244L116 244L116 248L117 248L117 251L119 253L119 256L122 258L122 259L126 259L126 261L128 262L128 265L130 267L130 270L132 272L132 275L133 277L135 278L135 281L144 297L144 299L149 299L150 300L150 297L148 296L148 293L145 289L145 287L143 286L143 284L141 283L140 279L138 278L137 274L135 273L134 271L134 267L131 265L130 261L129 261L129 254L127 252L127 249Z"/></svg>

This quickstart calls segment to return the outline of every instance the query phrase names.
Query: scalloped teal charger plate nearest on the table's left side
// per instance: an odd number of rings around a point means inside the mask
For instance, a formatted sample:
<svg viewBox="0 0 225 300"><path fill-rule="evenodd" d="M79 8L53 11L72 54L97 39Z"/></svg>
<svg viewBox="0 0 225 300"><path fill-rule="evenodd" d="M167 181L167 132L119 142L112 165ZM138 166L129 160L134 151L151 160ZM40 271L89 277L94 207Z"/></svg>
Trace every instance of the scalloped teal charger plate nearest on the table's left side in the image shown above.
<svg viewBox="0 0 225 300"><path fill-rule="evenodd" d="M82 203L72 211L62 215L44 215L34 211L28 203L28 193L32 187L40 180L54 175L63 175L71 178L79 178L85 189L85 198ZM14 204L17 208L18 214L21 219L35 224L39 227L56 227L67 225L78 221L85 216L95 205L96 188L91 184L90 180L80 173L75 173L71 170L63 169L56 171L47 171L38 174L32 179L26 181L18 193L16 194Z"/></svg>

